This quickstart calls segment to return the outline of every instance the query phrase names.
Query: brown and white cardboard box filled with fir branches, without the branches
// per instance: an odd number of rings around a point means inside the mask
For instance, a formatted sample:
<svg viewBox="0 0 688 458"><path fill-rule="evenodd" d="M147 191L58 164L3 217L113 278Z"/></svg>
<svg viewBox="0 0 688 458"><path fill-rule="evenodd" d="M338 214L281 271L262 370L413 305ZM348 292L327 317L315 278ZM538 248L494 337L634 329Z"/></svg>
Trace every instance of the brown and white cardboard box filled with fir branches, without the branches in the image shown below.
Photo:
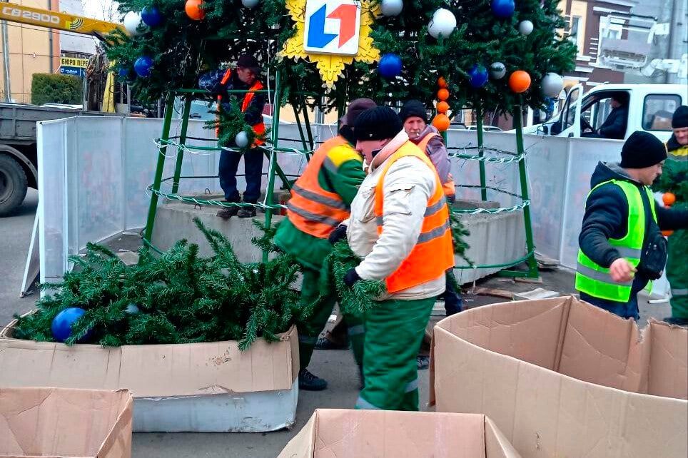
<svg viewBox="0 0 688 458"><path fill-rule="evenodd" d="M135 432L274 431L290 427L296 414L295 327L245 352L233 341L68 347L5 332L0 368L5 387L131 390Z"/></svg>

